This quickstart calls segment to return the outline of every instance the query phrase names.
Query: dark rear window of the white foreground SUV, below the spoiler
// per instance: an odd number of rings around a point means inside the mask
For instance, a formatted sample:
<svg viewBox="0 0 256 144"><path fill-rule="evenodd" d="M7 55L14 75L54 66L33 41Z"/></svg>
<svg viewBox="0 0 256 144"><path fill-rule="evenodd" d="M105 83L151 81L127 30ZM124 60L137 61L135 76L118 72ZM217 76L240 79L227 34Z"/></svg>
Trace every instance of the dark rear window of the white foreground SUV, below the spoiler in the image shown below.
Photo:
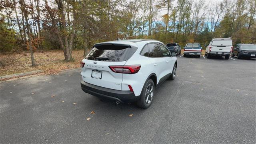
<svg viewBox="0 0 256 144"><path fill-rule="evenodd" d="M122 62L128 60L137 48L124 44L96 44L87 54L85 59L107 61L107 62Z"/></svg>

